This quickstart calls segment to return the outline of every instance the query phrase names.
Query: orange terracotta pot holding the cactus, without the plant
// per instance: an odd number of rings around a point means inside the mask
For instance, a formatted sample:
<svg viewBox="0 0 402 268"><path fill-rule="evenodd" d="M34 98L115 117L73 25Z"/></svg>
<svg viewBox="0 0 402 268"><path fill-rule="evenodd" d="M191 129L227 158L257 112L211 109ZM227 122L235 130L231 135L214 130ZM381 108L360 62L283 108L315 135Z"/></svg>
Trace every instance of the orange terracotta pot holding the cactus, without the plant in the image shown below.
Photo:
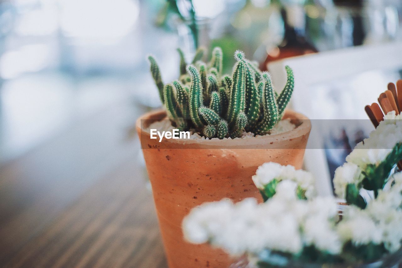
<svg viewBox="0 0 402 268"><path fill-rule="evenodd" d="M229 267L234 261L222 250L183 239L181 224L191 208L231 198L238 202L261 196L252 182L258 166L277 162L301 168L311 123L287 110L296 128L282 134L234 140L150 139L145 129L165 118L164 111L137 120L137 132L150 177L156 212L170 268Z"/></svg>

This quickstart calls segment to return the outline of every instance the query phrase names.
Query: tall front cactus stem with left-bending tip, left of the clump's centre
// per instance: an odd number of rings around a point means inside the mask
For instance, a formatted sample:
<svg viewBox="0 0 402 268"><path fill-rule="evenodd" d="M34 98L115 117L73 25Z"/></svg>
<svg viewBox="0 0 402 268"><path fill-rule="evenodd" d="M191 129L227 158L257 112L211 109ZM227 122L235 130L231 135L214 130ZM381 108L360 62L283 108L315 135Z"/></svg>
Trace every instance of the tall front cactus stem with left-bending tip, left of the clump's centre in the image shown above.
<svg viewBox="0 0 402 268"><path fill-rule="evenodd" d="M202 128L203 121L199 117L198 109L201 107L202 100L202 85L201 77L194 65L187 66L187 72L191 76L190 98L189 98L189 110L190 117L193 121L195 128Z"/></svg>

